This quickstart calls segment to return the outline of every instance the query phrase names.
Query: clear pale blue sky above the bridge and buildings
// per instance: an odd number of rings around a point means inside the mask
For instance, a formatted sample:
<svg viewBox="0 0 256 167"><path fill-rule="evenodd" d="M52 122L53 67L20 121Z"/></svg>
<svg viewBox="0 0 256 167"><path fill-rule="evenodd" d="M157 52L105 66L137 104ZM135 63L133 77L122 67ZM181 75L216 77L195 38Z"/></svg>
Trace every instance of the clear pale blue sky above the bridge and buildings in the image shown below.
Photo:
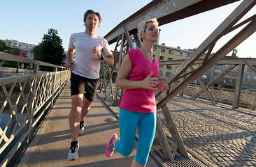
<svg viewBox="0 0 256 167"><path fill-rule="evenodd" d="M103 22L97 34L106 35L117 24L122 22L143 6L150 3L146 0L98 0L98 1L59 1L59 0L13 0L1 2L0 39L19 40L34 45L42 41L43 34L48 29L57 29L62 38L65 50L68 48L71 33L85 31L83 14L87 9L92 9L101 14ZM201 13L192 17L178 20L160 26L159 44L165 43L169 47L179 46L181 49L194 49L210 35L220 23L239 6L241 1ZM245 18L255 15L256 6L250 10ZM243 18L243 19L245 19ZM217 51L231 35L221 38L213 51ZM256 33L251 35L241 45L236 47L237 56L256 58L255 54ZM111 48L115 46L111 45Z"/></svg>

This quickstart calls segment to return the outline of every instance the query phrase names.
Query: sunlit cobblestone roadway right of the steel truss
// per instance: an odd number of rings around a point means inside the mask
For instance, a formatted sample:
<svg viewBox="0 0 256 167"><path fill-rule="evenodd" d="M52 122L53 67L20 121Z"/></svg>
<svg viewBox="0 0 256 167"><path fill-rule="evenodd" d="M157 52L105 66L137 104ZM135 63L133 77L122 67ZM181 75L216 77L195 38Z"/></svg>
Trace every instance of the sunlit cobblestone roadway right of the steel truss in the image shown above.
<svg viewBox="0 0 256 167"><path fill-rule="evenodd" d="M181 97L168 106L183 143L201 157L216 166L256 166L255 111Z"/></svg>

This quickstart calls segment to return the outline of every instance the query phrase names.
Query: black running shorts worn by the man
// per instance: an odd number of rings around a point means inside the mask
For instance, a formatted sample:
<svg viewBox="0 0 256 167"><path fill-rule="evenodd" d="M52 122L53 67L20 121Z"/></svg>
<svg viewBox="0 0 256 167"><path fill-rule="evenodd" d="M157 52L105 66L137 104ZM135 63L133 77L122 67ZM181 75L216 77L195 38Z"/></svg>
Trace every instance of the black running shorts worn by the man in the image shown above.
<svg viewBox="0 0 256 167"><path fill-rule="evenodd" d="M70 81L71 96L84 94L87 100L91 102L93 101L94 95L96 94L98 88L99 79L89 79L71 72Z"/></svg>

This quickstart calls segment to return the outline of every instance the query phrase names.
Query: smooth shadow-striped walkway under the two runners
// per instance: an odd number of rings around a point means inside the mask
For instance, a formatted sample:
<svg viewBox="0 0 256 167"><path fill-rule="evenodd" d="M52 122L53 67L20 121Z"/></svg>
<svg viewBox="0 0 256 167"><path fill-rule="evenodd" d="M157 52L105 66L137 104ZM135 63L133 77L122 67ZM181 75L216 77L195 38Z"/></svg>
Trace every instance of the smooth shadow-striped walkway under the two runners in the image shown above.
<svg viewBox="0 0 256 167"><path fill-rule="evenodd" d="M67 155L71 142L69 130L69 111L71 97L69 83L59 95L36 137L29 145L18 166L130 166L136 150L129 157L122 157L115 152L111 158L106 157L105 147L111 134L119 134L118 120L96 97L85 119L85 132L79 136L79 158L68 161ZM157 166L149 159L148 166Z"/></svg>

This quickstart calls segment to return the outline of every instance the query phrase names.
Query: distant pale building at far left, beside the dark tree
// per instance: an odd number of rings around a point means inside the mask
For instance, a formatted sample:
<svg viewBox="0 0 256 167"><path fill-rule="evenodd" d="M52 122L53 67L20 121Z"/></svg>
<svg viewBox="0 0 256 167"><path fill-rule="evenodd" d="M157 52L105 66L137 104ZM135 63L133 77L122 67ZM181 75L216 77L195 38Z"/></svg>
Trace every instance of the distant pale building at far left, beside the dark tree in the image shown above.
<svg viewBox="0 0 256 167"><path fill-rule="evenodd" d="M31 51L33 47L36 45L27 44L24 42L20 42L18 40L2 40L6 43L6 46L9 47L10 51L13 51L14 49L20 49L20 53L23 54L23 57L25 58L34 58L34 55Z"/></svg>

